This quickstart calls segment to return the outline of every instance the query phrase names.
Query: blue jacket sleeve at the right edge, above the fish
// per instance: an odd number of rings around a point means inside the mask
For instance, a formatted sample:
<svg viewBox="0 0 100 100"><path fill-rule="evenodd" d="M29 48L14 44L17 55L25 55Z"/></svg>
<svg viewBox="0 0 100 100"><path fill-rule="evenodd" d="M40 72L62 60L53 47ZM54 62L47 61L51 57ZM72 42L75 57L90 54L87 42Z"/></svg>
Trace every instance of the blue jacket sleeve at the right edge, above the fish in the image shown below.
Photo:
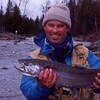
<svg viewBox="0 0 100 100"><path fill-rule="evenodd" d="M100 57L97 57L91 51L88 53L87 61L91 68L100 68Z"/></svg>

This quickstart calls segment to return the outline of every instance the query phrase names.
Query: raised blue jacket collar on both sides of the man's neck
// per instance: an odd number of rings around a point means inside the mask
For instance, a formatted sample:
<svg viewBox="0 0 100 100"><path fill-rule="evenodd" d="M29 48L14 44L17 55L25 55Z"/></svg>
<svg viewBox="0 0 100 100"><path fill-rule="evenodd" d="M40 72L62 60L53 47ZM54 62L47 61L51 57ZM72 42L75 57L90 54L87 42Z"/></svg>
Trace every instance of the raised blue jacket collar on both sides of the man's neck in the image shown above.
<svg viewBox="0 0 100 100"><path fill-rule="evenodd" d="M66 46L68 46L68 52L67 54L72 52L73 49L73 41L72 41L72 36L70 33L68 34L68 43L66 44ZM34 38L34 43L41 47L40 53L41 54L50 54L52 53L52 51L54 50L54 48L52 46L50 46L47 42L46 42L46 35L45 33L40 33L38 34L35 38Z"/></svg>

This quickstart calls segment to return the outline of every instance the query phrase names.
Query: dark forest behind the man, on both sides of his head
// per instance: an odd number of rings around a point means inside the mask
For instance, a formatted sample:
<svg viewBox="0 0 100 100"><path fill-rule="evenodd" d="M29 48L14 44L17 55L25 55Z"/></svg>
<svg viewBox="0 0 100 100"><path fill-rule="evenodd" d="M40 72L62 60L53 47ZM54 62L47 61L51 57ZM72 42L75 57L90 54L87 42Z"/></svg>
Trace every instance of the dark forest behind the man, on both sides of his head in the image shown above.
<svg viewBox="0 0 100 100"><path fill-rule="evenodd" d="M100 0L70 0L68 6L71 12L72 33L100 31ZM13 6L8 0L5 14L3 7L0 7L0 27L5 27L9 32L15 33L17 30L20 35L33 36L43 31L43 16L40 19L37 16L35 20L29 19L26 15L22 16L17 4Z"/></svg>

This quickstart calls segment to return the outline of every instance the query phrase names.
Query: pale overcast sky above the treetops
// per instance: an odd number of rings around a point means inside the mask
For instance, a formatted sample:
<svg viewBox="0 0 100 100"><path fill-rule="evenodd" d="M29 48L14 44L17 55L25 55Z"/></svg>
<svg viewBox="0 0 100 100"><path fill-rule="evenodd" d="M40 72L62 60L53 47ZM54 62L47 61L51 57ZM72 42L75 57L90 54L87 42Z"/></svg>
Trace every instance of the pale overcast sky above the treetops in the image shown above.
<svg viewBox="0 0 100 100"><path fill-rule="evenodd" d="M19 5L20 0L11 0L11 1L13 4L17 3ZM21 9L22 15L24 14L24 8L27 1L28 3L26 5L26 10L25 10L25 14L27 15L27 17L31 17L33 19L35 19L36 16L40 17L42 14L41 5L45 5L45 2L47 0L21 0L20 9ZM56 1L60 3L62 0L50 0L50 1L51 1L51 5L54 5ZM1 5L3 6L3 11L5 11L7 7L7 3L8 3L8 0L0 0L0 6Z"/></svg>

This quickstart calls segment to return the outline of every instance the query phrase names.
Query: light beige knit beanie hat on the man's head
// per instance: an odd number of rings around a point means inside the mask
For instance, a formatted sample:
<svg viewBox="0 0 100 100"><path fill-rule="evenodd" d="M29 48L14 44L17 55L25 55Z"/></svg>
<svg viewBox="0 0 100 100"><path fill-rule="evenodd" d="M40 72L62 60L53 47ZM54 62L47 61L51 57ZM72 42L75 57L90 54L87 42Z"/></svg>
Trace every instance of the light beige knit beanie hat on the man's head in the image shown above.
<svg viewBox="0 0 100 100"><path fill-rule="evenodd" d="M71 28L70 11L66 3L60 3L52 6L44 15L42 25L44 26L49 20L58 20L65 23Z"/></svg>

